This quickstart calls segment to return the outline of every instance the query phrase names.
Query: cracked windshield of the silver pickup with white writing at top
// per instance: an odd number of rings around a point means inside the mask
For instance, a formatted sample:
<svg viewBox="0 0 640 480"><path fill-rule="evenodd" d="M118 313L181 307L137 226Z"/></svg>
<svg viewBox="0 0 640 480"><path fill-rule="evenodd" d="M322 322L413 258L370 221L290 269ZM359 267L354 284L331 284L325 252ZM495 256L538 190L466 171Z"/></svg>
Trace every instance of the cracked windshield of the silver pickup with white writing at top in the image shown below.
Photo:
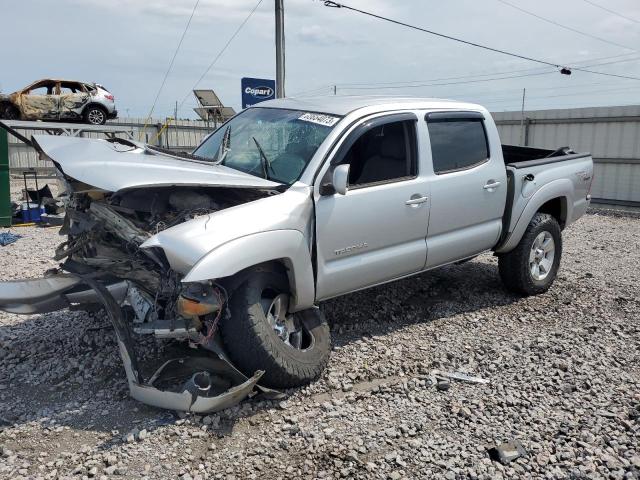
<svg viewBox="0 0 640 480"><path fill-rule="evenodd" d="M335 115L300 110L250 108L216 130L193 153L290 185L339 120Z"/></svg>

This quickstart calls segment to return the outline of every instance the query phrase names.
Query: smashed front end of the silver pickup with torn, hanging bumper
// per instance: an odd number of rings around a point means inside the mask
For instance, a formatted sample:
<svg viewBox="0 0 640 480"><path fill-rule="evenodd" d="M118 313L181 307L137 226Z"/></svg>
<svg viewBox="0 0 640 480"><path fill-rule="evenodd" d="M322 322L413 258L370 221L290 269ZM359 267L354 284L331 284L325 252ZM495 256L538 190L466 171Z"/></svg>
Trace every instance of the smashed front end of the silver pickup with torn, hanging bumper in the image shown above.
<svg viewBox="0 0 640 480"><path fill-rule="evenodd" d="M273 194L234 186L154 185L111 192L58 175L65 190L67 235L55 253L60 267L44 278L3 282L0 309L43 313L103 306L115 328L131 396L160 408L212 412L248 396L279 392L258 386L227 357L216 332L227 309L225 287L214 280L183 282L159 247L140 248L161 231ZM133 334L188 344L145 378ZM203 355L204 354L204 355Z"/></svg>

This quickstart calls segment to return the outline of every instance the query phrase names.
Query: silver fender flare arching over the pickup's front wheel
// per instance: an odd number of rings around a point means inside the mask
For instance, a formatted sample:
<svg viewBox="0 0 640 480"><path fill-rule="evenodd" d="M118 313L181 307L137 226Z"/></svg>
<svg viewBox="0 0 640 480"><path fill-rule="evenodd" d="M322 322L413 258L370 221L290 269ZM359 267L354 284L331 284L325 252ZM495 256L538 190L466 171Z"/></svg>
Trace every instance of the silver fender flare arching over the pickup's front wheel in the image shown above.
<svg viewBox="0 0 640 480"><path fill-rule="evenodd" d="M315 302L311 253L298 230L271 230L246 235L213 249L187 273L183 282L229 277L254 265L282 260L292 287L292 311L310 308Z"/></svg>

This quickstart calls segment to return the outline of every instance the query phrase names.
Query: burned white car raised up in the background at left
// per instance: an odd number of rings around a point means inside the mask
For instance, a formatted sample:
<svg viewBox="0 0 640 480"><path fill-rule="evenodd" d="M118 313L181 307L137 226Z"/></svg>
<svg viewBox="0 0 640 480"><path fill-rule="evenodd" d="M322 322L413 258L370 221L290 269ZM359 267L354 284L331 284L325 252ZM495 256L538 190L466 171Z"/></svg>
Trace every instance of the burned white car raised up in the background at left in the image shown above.
<svg viewBox="0 0 640 480"><path fill-rule="evenodd" d="M0 94L0 118L7 120L103 125L117 116L113 95L97 83L46 79L9 95Z"/></svg>

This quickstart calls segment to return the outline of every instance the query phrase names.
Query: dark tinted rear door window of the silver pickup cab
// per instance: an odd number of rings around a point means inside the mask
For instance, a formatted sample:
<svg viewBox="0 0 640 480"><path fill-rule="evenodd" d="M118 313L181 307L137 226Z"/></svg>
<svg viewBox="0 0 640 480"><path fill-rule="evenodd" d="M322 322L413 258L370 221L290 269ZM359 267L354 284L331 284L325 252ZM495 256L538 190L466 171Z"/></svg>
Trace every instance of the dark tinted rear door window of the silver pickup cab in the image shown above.
<svg viewBox="0 0 640 480"><path fill-rule="evenodd" d="M433 170L437 175L472 168L489 158L481 117L427 118Z"/></svg>

